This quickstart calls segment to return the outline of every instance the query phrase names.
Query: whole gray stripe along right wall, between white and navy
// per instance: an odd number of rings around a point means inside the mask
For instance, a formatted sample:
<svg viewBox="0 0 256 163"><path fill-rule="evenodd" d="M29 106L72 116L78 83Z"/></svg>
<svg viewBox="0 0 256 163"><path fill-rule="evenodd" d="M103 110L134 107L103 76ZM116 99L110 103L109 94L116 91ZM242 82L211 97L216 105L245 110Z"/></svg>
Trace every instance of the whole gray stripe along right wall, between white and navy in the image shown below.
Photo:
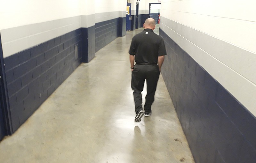
<svg viewBox="0 0 256 163"><path fill-rule="evenodd" d="M164 17L160 28L256 115L254 53Z"/></svg>

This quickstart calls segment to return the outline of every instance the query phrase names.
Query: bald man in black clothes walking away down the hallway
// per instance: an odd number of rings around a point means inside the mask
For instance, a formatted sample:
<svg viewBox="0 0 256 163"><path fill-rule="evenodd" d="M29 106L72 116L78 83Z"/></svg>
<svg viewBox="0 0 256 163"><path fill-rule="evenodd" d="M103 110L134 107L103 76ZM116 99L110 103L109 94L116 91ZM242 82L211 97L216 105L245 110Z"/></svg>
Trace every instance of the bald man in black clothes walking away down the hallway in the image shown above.
<svg viewBox="0 0 256 163"><path fill-rule="evenodd" d="M132 38L129 50L132 69L132 90L135 103L135 122L140 122L141 118L150 116L151 105L154 102L156 85L160 75L161 66L164 63L166 50L164 40L153 30L156 28L156 22L148 18L143 24L143 32L136 34ZM134 60L136 64L134 65ZM142 108L142 95L145 79L147 80L147 95Z"/></svg>

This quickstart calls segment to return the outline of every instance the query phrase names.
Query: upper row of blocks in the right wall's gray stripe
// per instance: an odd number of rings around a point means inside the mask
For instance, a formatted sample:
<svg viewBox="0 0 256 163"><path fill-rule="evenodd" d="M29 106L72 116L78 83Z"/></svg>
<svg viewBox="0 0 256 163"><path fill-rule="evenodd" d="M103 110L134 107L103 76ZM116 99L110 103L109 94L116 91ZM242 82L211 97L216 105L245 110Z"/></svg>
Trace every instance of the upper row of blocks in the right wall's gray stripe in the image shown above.
<svg viewBox="0 0 256 163"><path fill-rule="evenodd" d="M164 17L161 18L161 22L256 84L256 55L254 53Z"/></svg>

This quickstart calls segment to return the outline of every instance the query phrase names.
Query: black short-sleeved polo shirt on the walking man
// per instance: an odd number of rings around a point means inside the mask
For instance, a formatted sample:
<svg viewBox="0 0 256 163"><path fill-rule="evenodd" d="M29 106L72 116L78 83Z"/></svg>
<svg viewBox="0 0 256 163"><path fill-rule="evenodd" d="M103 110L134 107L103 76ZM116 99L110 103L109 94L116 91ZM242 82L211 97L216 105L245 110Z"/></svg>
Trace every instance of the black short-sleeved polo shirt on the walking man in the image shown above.
<svg viewBox="0 0 256 163"><path fill-rule="evenodd" d="M164 40L152 29L144 29L133 36L129 54L136 55L136 63L156 64L158 56L166 55Z"/></svg>

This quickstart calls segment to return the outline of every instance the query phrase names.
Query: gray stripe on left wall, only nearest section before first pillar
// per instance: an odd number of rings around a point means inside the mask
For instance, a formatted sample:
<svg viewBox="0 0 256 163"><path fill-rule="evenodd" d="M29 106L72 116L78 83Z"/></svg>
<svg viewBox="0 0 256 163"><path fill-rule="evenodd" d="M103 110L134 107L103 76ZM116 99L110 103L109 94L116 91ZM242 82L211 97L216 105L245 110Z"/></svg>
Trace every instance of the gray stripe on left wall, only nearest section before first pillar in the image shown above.
<svg viewBox="0 0 256 163"><path fill-rule="evenodd" d="M31 48L81 27L81 16L1 30L4 57Z"/></svg>

